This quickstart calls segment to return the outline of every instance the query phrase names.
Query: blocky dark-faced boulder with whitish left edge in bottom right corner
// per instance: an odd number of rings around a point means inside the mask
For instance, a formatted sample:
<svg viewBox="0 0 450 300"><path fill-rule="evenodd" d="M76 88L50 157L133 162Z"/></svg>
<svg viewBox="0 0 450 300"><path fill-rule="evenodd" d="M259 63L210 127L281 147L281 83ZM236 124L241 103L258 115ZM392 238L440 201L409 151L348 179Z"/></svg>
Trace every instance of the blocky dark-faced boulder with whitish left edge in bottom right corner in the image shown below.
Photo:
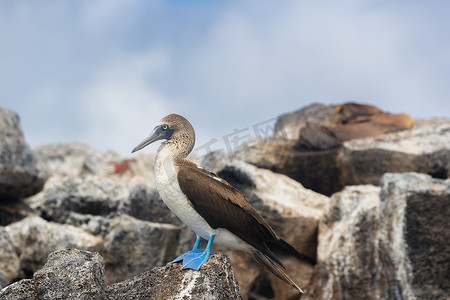
<svg viewBox="0 0 450 300"><path fill-rule="evenodd" d="M386 174L381 188L381 231L397 277L407 280L404 289L417 299L448 299L450 179Z"/></svg>

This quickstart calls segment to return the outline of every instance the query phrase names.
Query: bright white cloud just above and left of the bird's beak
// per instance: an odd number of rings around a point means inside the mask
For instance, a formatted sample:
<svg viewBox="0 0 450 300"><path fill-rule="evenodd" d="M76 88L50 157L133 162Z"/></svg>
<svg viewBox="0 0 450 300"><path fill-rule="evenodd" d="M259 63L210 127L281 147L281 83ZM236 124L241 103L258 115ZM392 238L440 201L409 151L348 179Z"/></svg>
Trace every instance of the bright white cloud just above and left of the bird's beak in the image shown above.
<svg viewBox="0 0 450 300"><path fill-rule="evenodd" d="M146 137L170 112L169 100L150 80L165 68L166 59L158 50L123 55L99 72L81 96L89 124L85 142L127 154Z"/></svg>

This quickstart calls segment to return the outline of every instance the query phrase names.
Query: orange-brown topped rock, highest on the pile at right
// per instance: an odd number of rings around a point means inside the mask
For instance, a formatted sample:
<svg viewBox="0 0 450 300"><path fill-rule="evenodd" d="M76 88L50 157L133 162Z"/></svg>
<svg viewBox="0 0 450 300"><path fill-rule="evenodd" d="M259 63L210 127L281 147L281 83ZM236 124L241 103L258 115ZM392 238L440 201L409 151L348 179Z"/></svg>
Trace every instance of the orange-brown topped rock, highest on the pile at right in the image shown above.
<svg viewBox="0 0 450 300"><path fill-rule="evenodd" d="M324 143L323 146L327 144L327 139L345 141L356 137L375 136L409 129L413 122L408 115L394 115L369 104L314 103L280 116L275 124L274 133L275 136L297 140L300 148L303 148L302 146L309 148L309 145L313 146L312 148L323 149L317 146L321 143Z"/></svg>

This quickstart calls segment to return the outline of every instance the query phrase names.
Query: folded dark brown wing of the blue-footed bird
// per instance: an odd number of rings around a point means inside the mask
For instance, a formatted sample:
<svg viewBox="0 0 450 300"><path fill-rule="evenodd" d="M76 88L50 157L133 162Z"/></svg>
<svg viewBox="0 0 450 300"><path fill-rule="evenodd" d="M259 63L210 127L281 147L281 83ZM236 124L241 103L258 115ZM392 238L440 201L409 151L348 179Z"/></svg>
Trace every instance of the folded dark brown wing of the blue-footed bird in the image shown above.
<svg viewBox="0 0 450 300"><path fill-rule="evenodd" d="M187 159L178 159L177 166L181 190L209 226L229 230L279 262L265 243L280 238L241 192Z"/></svg>

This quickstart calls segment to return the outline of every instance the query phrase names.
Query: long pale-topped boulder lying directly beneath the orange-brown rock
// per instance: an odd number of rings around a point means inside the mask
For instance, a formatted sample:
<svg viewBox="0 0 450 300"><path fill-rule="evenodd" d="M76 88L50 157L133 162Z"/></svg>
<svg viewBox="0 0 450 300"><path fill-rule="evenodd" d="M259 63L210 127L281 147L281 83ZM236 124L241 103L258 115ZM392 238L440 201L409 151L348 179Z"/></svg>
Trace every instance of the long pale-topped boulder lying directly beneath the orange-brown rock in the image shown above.
<svg viewBox="0 0 450 300"><path fill-rule="evenodd" d="M387 172L445 179L450 176L450 120L417 120L410 130L353 139L322 151L302 151L294 139L274 137L246 145L234 156L325 195L348 185L379 185Z"/></svg>

